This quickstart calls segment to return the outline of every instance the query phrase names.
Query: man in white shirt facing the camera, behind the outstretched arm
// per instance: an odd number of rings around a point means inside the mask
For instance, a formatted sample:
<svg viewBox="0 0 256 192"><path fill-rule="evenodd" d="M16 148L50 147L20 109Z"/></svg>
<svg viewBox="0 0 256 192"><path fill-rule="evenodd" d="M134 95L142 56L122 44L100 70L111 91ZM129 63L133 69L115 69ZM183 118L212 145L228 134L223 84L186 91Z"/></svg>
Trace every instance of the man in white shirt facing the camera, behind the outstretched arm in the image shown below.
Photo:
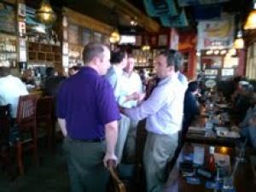
<svg viewBox="0 0 256 192"><path fill-rule="evenodd" d="M135 65L135 58L133 55L128 55L127 65L124 68L124 73L122 75L122 90L125 96L123 97L125 101L119 103L120 106L124 108L133 108L137 106L137 101L130 100L130 96L136 94L143 94L143 83L140 76L133 71ZM136 137L137 137L137 120L130 119L130 128L125 143L124 156L125 161L134 163L136 155Z"/></svg>

